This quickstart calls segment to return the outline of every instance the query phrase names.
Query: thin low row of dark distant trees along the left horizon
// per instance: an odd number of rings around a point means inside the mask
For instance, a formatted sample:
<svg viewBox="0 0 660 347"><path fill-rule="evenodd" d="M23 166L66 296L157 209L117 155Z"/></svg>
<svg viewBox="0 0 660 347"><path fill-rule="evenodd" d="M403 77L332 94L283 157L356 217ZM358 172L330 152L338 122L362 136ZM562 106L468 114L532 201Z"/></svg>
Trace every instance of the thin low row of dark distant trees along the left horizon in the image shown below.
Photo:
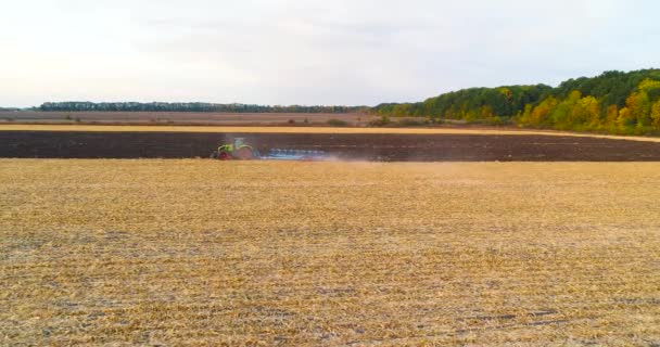
<svg viewBox="0 0 660 347"><path fill-rule="evenodd" d="M46 102L39 111L60 112L223 112L223 113L355 113L364 106L215 104L204 102Z"/></svg>

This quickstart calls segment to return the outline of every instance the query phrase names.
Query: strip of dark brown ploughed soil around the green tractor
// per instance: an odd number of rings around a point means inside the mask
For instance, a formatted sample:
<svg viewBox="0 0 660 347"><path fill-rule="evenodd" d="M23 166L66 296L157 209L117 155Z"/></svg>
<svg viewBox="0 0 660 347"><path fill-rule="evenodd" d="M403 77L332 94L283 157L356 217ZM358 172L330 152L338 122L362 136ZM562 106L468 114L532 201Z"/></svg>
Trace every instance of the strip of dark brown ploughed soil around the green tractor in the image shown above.
<svg viewBox="0 0 660 347"><path fill-rule="evenodd" d="M660 143L556 136L329 134L0 131L0 157L208 157L223 142L245 138L271 149L320 150L344 159L384 162L660 160Z"/></svg>

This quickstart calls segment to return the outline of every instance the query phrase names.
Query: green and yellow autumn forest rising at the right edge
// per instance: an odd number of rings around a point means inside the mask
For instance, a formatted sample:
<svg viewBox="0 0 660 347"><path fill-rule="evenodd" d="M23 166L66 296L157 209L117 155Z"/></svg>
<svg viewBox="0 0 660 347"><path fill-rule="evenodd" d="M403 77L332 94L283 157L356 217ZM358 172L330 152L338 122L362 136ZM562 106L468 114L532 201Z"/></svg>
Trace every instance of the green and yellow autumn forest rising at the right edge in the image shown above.
<svg viewBox="0 0 660 347"><path fill-rule="evenodd" d="M371 112L558 130L658 133L660 69L606 72L597 77L569 79L556 88L470 88L418 103L380 104Z"/></svg>

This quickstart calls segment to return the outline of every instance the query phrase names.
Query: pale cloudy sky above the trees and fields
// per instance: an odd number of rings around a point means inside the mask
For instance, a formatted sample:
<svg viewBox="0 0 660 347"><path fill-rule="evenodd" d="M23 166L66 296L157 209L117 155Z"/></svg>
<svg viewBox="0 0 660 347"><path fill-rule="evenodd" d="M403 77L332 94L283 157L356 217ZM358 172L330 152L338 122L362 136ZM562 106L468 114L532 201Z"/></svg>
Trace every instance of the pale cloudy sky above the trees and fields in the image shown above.
<svg viewBox="0 0 660 347"><path fill-rule="evenodd" d="M655 0L3 0L0 106L348 104L660 67Z"/></svg>

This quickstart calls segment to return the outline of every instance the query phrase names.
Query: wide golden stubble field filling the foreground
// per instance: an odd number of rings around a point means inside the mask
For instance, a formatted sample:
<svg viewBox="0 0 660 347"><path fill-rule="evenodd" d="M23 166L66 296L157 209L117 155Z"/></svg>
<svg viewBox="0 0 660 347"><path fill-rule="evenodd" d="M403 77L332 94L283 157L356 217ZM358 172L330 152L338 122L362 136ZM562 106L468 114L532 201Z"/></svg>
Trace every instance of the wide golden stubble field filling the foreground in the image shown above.
<svg viewBox="0 0 660 347"><path fill-rule="evenodd" d="M0 159L0 344L660 343L658 163Z"/></svg>

